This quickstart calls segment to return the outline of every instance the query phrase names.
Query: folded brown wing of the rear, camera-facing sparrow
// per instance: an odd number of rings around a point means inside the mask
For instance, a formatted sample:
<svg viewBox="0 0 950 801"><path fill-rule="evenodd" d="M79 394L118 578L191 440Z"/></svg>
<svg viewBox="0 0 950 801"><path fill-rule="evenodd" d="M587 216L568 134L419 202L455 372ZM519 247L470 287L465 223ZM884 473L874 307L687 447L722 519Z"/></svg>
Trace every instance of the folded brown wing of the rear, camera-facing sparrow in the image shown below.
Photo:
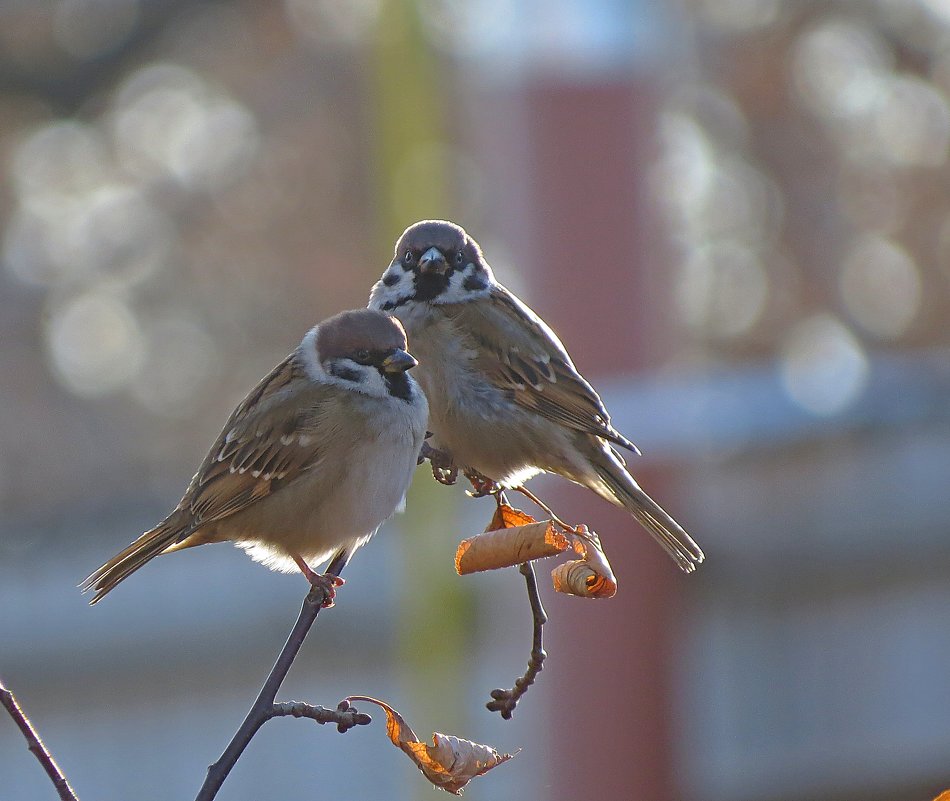
<svg viewBox="0 0 950 801"><path fill-rule="evenodd" d="M603 401L557 335L507 289L496 286L489 298L454 305L447 313L475 341L476 366L519 406L639 453L610 424Z"/></svg>

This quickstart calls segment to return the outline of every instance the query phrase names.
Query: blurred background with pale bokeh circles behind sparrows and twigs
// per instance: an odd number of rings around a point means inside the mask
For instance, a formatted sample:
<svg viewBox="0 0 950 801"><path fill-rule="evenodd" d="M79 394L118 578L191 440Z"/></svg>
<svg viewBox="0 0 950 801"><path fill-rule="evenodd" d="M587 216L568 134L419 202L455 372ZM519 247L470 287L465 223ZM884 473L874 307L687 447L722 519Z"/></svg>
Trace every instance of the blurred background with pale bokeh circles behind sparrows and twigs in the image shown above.
<svg viewBox="0 0 950 801"><path fill-rule="evenodd" d="M950 3L0 2L0 675L78 793L190 798L302 579L214 546L90 609L244 393L448 217L561 333L707 562L600 531L610 601L460 579L421 468L279 698L523 750L478 799L950 785ZM372 711L372 710L369 710ZM428 798L382 716L261 730L221 799ZM0 718L0 796L53 797Z"/></svg>

